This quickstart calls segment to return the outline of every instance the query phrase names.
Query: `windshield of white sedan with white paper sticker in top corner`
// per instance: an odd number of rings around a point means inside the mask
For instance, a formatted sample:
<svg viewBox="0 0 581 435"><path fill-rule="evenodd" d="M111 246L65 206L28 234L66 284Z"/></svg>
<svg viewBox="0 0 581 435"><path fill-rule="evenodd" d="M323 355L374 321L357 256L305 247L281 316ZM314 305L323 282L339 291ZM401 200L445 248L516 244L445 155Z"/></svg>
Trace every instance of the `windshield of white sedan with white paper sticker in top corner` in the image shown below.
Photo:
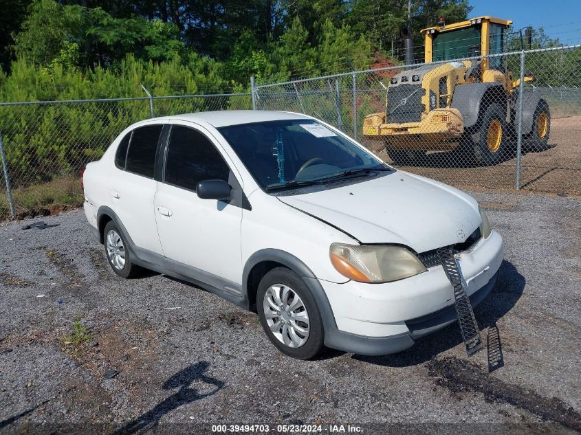
<svg viewBox="0 0 581 435"><path fill-rule="evenodd" d="M391 170L369 151L315 120L256 122L219 131L265 190Z"/></svg>

